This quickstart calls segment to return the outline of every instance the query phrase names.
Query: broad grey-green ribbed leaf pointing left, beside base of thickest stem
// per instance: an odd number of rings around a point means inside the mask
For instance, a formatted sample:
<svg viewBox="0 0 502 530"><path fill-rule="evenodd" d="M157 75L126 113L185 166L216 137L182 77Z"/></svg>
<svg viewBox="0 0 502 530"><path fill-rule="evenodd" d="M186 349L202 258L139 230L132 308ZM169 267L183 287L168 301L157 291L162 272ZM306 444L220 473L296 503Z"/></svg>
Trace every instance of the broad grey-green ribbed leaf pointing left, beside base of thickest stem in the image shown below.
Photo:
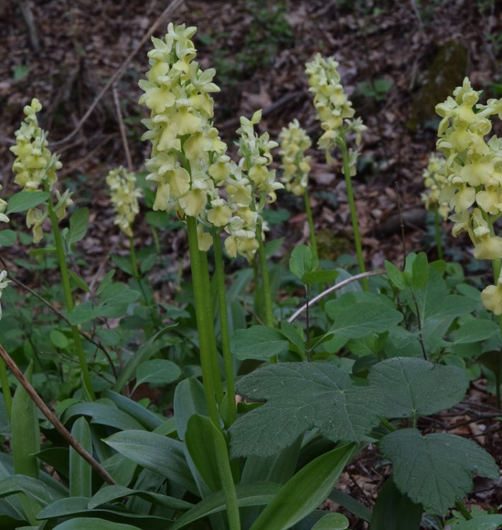
<svg viewBox="0 0 502 530"><path fill-rule="evenodd" d="M197 487L183 454L182 442L155 432L124 430L107 438L105 443L140 466L160 473L197 495Z"/></svg>

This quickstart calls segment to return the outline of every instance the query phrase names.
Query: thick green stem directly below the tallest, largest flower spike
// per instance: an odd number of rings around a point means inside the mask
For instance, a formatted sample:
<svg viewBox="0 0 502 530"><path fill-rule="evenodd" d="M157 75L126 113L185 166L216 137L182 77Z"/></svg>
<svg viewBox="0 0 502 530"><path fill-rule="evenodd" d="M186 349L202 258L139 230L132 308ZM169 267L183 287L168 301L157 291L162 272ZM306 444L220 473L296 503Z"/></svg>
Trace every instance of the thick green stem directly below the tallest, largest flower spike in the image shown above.
<svg viewBox="0 0 502 530"><path fill-rule="evenodd" d="M207 314L206 290L204 289L204 278L199 254L199 242L197 238L197 220L187 217L188 248L190 254L190 266L192 268L192 282L194 286L195 317L197 319L197 330L199 331L199 348L201 358L202 378L204 382L204 397L209 411L211 421L220 428L218 409L216 408L216 392L214 390L213 367L211 361L211 336L208 327L213 326L212 319Z"/></svg>

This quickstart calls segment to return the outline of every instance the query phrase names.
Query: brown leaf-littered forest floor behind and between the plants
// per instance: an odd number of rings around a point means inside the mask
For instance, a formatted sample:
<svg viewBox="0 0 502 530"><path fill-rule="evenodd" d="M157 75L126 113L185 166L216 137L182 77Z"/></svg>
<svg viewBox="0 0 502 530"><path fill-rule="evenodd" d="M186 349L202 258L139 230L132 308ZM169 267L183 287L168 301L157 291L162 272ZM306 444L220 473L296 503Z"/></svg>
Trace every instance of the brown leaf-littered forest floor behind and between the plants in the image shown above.
<svg viewBox="0 0 502 530"><path fill-rule="evenodd" d="M28 6L31 23L23 18L19 4ZM146 42L139 47L139 43L166 6L165 0L0 0L1 194L18 191L12 182L13 155L8 148L23 119L23 105L36 97L44 106L41 125L49 131L53 151L61 155L59 177L76 190L79 204L91 208L88 276L99 269L110 249L127 252L127 242L112 224L105 175L117 165L127 165L119 116L126 125L132 167L144 170L148 145L141 141L140 120L146 110L137 103L138 81L148 69L146 52L151 45ZM484 98L501 97L502 86L497 86L502 82L499 2L185 0L159 25L157 36L163 35L169 20L198 28L194 37L198 60L203 68L216 68L215 81L221 87L221 94L215 95L215 126L228 143L235 140L238 117L250 117L259 108L264 109L259 129L269 131L272 139L297 118L317 140L320 131L304 65L316 52L333 55L356 116L368 126L354 179L368 269L381 268L385 259L400 264L411 250L435 257L431 220L420 199L422 172L436 143L434 106L466 75L474 88L485 91ZM115 90L100 95L135 50ZM93 105L90 117L79 124ZM321 254L332 258L352 246L341 163L328 166L324 154L315 148L309 154ZM289 212L286 223L273 234L286 235L282 252L287 254L293 245L307 240L303 206L279 194L273 208ZM151 237L141 221L135 233L143 242ZM173 261L186 254L182 231L165 233L163 238ZM467 236L453 240L448 223L445 247L448 259L462 263L470 273L483 272L472 260ZM13 248L6 257L15 259L23 252ZM458 416L448 418L449 428L493 405L481 384L469 394ZM485 444L501 463L496 420L457 429ZM351 466L344 484L370 505L382 477L377 471L368 472L364 464L362 457ZM502 492L477 483L472 501L494 507L502 503Z"/></svg>

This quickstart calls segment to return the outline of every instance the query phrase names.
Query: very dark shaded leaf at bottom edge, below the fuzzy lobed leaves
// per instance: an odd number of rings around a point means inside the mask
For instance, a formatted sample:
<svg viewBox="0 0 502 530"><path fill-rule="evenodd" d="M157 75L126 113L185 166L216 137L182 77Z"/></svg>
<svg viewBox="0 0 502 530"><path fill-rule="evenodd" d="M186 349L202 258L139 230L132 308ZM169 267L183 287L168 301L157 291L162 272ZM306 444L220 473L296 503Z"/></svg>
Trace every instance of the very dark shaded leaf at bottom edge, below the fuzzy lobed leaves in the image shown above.
<svg viewBox="0 0 502 530"><path fill-rule="evenodd" d="M419 530L423 512L421 505L396 488L390 476L378 493L370 530Z"/></svg>

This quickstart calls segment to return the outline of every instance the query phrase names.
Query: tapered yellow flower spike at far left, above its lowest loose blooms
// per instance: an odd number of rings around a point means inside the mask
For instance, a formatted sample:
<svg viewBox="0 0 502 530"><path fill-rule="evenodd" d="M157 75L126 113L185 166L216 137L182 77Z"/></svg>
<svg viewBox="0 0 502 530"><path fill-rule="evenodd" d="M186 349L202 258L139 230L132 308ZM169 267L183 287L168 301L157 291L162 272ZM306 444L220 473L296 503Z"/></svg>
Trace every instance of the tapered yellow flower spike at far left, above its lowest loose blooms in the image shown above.
<svg viewBox="0 0 502 530"><path fill-rule="evenodd" d="M11 147L16 155L12 166L16 174L14 182L28 192L43 187L45 180L52 189L57 180L56 171L62 167L57 155L52 155L47 148L47 133L38 126L37 112L40 110L42 105L36 98L24 107L26 117L16 131L16 145Z"/></svg>

